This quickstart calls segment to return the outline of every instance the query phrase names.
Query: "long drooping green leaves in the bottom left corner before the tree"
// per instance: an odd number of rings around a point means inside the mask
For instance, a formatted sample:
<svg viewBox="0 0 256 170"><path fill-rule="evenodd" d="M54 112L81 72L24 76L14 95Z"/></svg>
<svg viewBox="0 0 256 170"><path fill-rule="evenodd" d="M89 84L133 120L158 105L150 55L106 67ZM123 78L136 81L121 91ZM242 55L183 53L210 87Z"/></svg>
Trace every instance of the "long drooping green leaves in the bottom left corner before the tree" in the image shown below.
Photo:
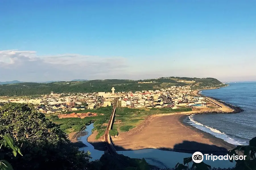
<svg viewBox="0 0 256 170"><path fill-rule="evenodd" d="M7 160L3 160L5 154L8 154L8 152L1 152L1 148L2 146L4 146L6 148L12 149L13 155L15 157L17 155L17 152L21 156L23 156L20 152L20 148L15 144L15 142L13 141L10 135L3 136L3 140L0 141L0 144L1 144L0 145L0 170L12 170L13 169L12 165Z"/></svg>

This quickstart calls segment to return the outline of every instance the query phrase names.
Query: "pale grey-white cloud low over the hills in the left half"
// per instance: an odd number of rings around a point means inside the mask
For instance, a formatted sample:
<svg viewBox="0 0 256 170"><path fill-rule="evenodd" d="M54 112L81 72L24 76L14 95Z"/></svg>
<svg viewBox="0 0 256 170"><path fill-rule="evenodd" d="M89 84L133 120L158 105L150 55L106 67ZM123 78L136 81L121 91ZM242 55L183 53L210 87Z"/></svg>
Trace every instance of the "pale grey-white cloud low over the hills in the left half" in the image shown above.
<svg viewBox="0 0 256 170"><path fill-rule="evenodd" d="M0 80L48 81L96 79L120 75L127 67L122 57L80 54L37 56L35 51L0 51ZM113 77L112 77L113 78Z"/></svg>

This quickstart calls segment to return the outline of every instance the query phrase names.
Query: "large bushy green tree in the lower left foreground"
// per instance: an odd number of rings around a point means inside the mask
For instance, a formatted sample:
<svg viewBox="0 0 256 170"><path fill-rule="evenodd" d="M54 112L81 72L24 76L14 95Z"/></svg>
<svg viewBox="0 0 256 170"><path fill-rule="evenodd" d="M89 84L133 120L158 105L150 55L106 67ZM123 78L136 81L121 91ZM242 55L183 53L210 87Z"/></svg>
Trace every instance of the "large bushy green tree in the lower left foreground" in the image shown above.
<svg viewBox="0 0 256 170"><path fill-rule="evenodd" d="M23 154L7 155L14 169L85 169L90 153L79 151L59 125L32 105L7 103L0 109L0 139L10 135Z"/></svg>

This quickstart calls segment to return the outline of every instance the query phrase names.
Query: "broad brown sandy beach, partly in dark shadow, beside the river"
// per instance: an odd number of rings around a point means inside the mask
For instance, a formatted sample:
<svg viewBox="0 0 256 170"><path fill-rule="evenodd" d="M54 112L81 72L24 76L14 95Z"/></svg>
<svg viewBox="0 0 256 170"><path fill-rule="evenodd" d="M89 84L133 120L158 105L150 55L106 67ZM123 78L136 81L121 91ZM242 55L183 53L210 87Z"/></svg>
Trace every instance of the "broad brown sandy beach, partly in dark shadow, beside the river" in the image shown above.
<svg viewBox="0 0 256 170"><path fill-rule="evenodd" d="M226 154L235 146L216 138L209 133L196 129L183 122L184 114L167 116L148 116L142 124L128 132L119 133L118 139L112 137L116 150L138 150L157 148L177 152ZM94 135L89 143L101 150Z"/></svg>

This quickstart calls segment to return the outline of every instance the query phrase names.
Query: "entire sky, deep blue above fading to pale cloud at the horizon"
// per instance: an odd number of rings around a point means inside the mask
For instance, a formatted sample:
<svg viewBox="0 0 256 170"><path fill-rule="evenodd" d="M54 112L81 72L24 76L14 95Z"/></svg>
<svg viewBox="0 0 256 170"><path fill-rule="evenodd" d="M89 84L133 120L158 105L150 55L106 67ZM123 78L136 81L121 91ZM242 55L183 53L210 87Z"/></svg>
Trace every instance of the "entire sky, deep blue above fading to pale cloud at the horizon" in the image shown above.
<svg viewBox="0 0 256 170"><path fill-rule="evenodd" d="M253 0L0 0L0 81L247 81L255 58Z"/></svg>

